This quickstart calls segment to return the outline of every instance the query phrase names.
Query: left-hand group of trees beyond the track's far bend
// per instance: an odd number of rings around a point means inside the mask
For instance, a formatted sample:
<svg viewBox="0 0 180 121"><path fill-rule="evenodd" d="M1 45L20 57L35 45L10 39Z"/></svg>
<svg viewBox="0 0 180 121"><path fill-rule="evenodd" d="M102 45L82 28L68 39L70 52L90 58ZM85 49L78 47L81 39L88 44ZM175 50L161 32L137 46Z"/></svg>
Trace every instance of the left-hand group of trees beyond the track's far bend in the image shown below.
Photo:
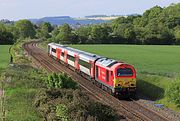
<svg viewBox="0 0 180 121"><path fill-rule="evenodd" d="M53 27L50 23L32 24L29 20L0 23L0 44L13 44L25 38L50 38Z"/></svg>

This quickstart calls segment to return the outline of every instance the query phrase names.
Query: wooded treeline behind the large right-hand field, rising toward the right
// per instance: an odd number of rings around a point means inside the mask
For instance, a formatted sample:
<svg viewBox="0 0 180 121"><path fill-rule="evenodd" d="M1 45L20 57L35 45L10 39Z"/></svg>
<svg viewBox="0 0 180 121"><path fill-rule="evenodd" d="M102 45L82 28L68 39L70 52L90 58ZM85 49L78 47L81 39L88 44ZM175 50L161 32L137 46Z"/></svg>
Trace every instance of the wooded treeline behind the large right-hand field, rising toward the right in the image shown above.
<svg viewBox="0 0 180 121"><path fill-rule="evenodd" d="M101 24L56 28L51 41L72 44L180 44L180 3L155 6L143 15L119 17Z"/></svg>

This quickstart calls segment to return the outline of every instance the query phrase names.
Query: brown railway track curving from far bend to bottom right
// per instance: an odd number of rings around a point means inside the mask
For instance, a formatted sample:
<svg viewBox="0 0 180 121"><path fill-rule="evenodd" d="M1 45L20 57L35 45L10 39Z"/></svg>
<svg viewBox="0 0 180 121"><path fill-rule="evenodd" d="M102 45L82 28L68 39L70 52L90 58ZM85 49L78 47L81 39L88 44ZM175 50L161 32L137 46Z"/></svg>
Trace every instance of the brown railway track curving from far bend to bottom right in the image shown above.
<svg viewBox="0 0 180 121"><path fill-rule="evenodd" d="M93 99L109 105L117 111L122 120L128 121L169 121L168 118L142 106L135 100L118 100L104 90L96 87L90 81L78 75L75 71L64 66L62 63L50 58L48 54L37 47L37 42L29 42L23 45L27 53L32 56L38 63L46 68L49 72L65 72L78 82Z"/></svg>

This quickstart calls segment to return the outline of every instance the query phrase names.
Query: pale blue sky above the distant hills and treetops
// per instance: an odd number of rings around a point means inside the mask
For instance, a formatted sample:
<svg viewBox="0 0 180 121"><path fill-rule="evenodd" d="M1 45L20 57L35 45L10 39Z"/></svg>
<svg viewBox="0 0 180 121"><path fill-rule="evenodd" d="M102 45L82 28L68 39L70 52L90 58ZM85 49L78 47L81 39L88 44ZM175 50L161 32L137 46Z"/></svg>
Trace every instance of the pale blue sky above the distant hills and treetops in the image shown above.
<svg viewBox="0 0 180 121"><path fill-rule="evenodd" d="M155 5L167 7L171 3L180 0L0 0L0 19L142 14Z"/></svg>

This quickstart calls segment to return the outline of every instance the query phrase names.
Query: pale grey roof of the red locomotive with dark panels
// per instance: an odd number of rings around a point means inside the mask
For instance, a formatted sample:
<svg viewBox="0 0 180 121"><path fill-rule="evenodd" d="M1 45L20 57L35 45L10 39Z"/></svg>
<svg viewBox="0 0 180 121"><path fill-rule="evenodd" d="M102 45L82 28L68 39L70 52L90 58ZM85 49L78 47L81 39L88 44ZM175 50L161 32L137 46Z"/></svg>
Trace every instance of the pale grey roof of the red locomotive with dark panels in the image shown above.
<svg viewBox="0 0 180 121"><path fill-rule="evenodd" d="M99 65L110 68L114 64L118 63L118 61L113 60L113 59L109 59L109 58L101 58L101 59L97 60L96 63Z"/></svg>

